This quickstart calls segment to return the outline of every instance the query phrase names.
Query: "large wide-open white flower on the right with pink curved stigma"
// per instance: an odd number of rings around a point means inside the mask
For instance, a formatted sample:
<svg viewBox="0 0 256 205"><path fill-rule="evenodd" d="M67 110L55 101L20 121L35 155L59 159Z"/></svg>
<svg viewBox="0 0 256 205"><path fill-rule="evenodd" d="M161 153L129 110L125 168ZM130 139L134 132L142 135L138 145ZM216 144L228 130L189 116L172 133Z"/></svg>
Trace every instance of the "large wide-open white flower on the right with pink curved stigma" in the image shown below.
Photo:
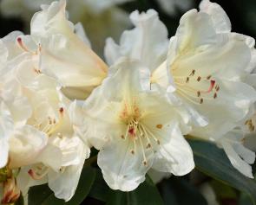
<svg viewBox="0 0 256 205"><path fill-rule="evenodd" d="M170 40L168 90L181 99L195 125L208 123L194 126L191 134L215 140L245 118L255 101L255 90L242 81L252 51L243 35L230 32L229 19L218 4L205 0L200 8L181 17Z"/></svg>

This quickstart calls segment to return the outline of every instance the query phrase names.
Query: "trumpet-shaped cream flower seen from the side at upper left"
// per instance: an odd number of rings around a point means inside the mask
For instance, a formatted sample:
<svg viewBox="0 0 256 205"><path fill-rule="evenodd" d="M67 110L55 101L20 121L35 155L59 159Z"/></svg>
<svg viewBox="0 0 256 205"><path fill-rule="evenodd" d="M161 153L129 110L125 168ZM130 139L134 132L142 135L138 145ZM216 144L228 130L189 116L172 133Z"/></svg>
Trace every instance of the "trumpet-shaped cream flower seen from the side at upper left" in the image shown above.
<svg viewBox="0 0 256 205"><path fill-rule="evenodd" d="M31 20L31 36L41 44L40 72L56 78L69 98L85 99L107 76L108 67L66 19L66 2L44 5Z"/></svg>

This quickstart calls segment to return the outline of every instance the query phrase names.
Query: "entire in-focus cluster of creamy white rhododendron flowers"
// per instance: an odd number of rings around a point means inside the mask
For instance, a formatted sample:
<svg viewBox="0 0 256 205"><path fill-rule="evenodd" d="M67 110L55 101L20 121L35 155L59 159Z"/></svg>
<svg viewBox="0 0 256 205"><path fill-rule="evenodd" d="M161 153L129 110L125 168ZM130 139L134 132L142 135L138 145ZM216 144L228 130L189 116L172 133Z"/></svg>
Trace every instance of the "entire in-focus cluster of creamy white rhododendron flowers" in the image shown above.
<svg viewBox="0 0 256 205"><path fill-rule="evenodd" d="M255 131L255 42L231 31L220 5L203 0L170 39L155 10L135 10L134 29L108 38L104 59L64 0L41 7L30 35L0 40L3 204L43 183L69 201L91 148L111 189L134 190L149 170L186 175L187 138L217 144L253 178L243 141Z"/></svg>

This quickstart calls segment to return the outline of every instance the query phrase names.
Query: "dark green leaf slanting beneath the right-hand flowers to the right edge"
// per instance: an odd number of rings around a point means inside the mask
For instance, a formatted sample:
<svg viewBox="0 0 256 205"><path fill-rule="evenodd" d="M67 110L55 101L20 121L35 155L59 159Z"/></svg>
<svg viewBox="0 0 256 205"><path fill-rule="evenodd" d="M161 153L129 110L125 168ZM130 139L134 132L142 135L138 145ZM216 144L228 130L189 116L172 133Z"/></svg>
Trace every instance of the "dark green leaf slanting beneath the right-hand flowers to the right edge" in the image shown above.
<svg viewBox="0 0 256 205"><path fill-rule="evenodd" d="M246 192L250 195L253 204L256 204L256 181L235 170L222 149L200 140L190 139L188 142L194 151L194 162L198 170L235 189Z"/></svg>

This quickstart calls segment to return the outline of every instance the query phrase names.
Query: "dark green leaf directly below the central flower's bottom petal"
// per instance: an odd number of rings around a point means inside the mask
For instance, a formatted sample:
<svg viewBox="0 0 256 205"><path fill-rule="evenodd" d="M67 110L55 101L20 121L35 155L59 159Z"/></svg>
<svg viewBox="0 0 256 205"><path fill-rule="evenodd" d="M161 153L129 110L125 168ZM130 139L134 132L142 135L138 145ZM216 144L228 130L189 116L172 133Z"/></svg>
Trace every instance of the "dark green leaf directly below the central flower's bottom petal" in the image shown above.
<svg viewBox="0 0 256 205"><path fill-rule="evenodd" d="M162 205L157 188L147 176L146 181L131 192L112 191L107 205Z"/></svg>

